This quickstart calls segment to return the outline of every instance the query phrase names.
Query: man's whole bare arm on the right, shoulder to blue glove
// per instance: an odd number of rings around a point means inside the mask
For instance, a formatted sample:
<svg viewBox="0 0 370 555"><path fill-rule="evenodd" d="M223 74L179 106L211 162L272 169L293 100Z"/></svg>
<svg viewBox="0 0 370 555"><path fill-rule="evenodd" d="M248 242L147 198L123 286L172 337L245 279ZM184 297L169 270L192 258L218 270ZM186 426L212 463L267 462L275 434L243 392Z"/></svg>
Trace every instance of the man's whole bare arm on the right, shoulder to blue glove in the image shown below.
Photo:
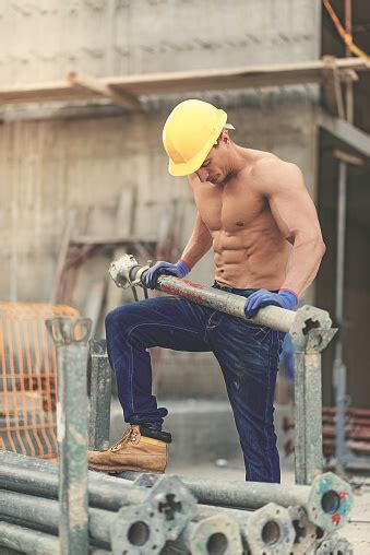
<svg viewBox="0 0 370 555"><path fill-rule="evenodd" d="M295 164L273 158L261 161L259 166L258 187L267 198L279 231L293 245L281 288L291 290L299 297L314 280L325 252L317 210Z"/></svg>

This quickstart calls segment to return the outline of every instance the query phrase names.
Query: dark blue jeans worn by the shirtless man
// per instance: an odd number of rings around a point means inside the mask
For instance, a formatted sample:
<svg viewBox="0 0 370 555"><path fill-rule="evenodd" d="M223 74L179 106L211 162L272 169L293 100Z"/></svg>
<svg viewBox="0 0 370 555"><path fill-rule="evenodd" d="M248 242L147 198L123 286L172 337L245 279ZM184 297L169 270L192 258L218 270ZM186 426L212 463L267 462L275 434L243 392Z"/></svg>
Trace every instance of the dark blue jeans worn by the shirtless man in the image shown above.
<svg viewBox="0 0 370 555"><path fill-rule="evenodd" d="M255 290L215 284L248 297ZM109 362L124 421L160 428L167 409L152 394L147 349L212 351L223 370L246 463L246 479L279 482L274 390L284 333L203 307L180 296L123 305L106 317Z"/></svg>

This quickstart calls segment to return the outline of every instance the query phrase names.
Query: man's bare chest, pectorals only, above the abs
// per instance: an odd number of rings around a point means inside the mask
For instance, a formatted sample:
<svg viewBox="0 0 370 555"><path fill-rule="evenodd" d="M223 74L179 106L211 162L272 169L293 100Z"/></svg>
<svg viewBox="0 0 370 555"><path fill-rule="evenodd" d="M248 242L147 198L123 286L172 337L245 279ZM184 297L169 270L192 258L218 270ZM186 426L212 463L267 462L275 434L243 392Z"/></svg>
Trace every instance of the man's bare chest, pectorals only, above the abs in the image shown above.
<svg viewBox="0 0 370 555"><path fill-rule="evenodd" d="M200 184L193 188L198 211L211 232L235 233L253 225L266 208L266 201L238 184Z"/></svg>

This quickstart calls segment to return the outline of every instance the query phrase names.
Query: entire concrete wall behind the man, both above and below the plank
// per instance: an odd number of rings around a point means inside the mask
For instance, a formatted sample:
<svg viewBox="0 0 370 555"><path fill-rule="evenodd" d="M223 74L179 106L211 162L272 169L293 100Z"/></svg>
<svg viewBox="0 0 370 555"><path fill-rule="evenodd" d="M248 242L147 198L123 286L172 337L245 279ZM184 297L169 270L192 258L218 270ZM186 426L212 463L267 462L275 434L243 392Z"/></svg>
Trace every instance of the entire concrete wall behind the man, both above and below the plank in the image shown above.
<svg viewBox="0 0 370 555"><path fill-rule="evenodd" d="M7 2L0 13L0 86L92 75L133 74L310 60L319 54L320 1L44 0ZM194 92L193 96L200 97ZM243 145L271 150L302 168L314 194L315 133L310 87L203 95L228 109ZM182 97L181 97L182 98ZM0 291L4 299L48 300L61 234L71 210L81 232L108 234L122 187L134 186L135 231L157 228L165 204L193 203L186 179L171 178L163 123L180 97L143 99L144 113L22 121L0 108ZM35 111L36 110L36 111ZM93 113L93 115L92 115ZM45 107L33 107L43 118ZM148 217L150 213L150 217ZM91 274L92 272L89 272ZM93 272L94 273L94 272ZM212 261L194 270L208 282ZM83 302L81 302L83 305ZM83 309L83 306L80 308Z"/></svg>

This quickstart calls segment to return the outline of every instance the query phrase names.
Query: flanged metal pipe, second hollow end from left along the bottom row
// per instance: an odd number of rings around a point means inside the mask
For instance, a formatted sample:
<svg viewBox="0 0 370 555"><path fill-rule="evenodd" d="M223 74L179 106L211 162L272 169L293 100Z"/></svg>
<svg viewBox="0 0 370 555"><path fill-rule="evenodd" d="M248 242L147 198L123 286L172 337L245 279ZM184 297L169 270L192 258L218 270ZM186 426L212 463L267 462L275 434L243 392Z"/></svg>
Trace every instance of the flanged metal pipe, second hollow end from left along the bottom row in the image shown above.
<svg viewBox="0 0 370 555"><path fill-rule="evenodd" d="M213 515L190 522L176 542L168 542L163 555L241 555L238 524L226 515Z"/></svg>

